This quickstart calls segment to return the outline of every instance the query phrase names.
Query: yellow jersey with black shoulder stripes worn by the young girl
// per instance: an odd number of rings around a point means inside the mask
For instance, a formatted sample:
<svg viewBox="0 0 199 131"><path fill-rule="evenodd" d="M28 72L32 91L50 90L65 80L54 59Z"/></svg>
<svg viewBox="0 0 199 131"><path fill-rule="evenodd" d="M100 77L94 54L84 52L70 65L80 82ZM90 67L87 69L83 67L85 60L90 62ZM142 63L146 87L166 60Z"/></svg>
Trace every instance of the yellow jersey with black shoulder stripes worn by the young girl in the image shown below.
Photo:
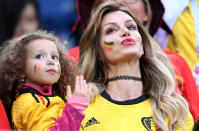
<svg viewBox="0 0 199 131"><path fill-rule="evenodd" d="M49 130L62 116L64 101L58 96L43 96L32 89L23 90L12 106L12 120L17 130Z"/></svg>

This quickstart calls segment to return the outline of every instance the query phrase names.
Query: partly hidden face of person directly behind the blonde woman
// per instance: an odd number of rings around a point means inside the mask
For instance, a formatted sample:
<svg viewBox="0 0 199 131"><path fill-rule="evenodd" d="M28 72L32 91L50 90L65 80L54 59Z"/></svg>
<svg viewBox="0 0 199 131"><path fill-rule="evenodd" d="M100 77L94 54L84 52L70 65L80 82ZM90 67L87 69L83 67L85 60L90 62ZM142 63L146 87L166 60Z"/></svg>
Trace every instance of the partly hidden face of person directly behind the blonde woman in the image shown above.
<svg viewBox="0 0 199 131"><path fill-rule="evenodd" d="M106 1L114 1L123 7L127 7L142 24L147 23L149 20L149 16L145 11L145 5L143 0L106 0Z"/></svg>

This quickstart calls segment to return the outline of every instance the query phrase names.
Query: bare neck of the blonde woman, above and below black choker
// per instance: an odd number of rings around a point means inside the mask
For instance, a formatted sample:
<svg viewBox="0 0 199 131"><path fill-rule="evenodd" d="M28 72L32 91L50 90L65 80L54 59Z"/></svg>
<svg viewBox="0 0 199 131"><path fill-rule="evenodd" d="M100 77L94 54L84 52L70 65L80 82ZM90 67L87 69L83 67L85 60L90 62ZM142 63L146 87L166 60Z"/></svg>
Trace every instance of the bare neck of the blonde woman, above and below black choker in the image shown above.
<svg viewBox="0 0 199 131"><path fill-rule="evenodd" d="M139 61L137 63L110 65L110 69L111 71L108 72L108 78L120 75L131 75L141 78ZM114 100L130 100L143 95L143 83L142 81L133 79L114 80L107 83L105 90Z"/></svg>

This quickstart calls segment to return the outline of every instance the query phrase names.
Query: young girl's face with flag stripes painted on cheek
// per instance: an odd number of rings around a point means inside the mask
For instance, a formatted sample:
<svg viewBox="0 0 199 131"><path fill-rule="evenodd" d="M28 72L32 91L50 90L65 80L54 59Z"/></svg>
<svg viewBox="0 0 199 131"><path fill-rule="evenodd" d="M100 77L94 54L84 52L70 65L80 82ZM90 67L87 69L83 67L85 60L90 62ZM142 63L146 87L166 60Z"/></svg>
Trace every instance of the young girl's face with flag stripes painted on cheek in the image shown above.
<svg viewBox="0 0 199 131"><path fill-rule="evenodd" d="M31 41L26 46L25 82L36 86L52 85L61 74L56 45L46 39Z"/></svg>

